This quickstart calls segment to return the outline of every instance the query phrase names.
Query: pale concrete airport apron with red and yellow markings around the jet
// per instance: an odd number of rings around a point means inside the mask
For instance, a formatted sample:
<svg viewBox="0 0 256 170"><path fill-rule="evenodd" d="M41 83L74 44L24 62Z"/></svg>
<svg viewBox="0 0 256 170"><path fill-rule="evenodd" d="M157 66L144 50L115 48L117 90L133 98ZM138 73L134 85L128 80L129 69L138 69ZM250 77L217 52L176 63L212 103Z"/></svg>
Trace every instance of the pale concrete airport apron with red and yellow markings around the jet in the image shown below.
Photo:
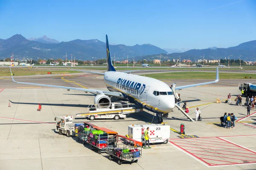
<svg viewBox="0 0 256 170"><path fill-rule="evenodd" d="M95 74L14 78L21 82L107 90L103 77ZM176 82L179 86L208 80L163 81L168 85ZM99 155L89 146L77 142L76 137L69 138L54 131L55 116L86 113L88 105L93 103L93 94L16 84L11 77L0 78L0 170L255 170L256 109L247 116L244 105L234 104L236 95L241 93L238 83L247 81L220 80L219 83L177 91L182 101L188 102L192 118L195 118L197 107L201 110L202 121L190 122L175 108L163 120L171 127L169 143L152 144L151 149L143 150L137 163L119 165L116 160L110 161L106 153ZM224 103L229 93L232 104ZM221 103L215 103L216 98ZM8 107L9 102L11 107ZM42 105L40 112L37 111L38 103ZM219 117L224 112L237 116L235 128L221 127ZM143 111L120 120L75 119L75 122L85 121L125 135L128 125L156 123L156 116ZM185 135L178 134L181 123L185 124Z"/></svg>

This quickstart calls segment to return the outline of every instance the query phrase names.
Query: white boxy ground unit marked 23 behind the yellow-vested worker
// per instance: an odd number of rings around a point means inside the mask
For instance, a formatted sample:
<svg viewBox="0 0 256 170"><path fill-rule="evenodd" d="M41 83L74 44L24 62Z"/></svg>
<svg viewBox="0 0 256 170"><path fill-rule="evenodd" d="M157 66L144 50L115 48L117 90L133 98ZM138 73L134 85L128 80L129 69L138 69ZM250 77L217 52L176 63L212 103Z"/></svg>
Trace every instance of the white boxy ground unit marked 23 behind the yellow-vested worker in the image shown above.
<svg viewBox="0 0 256 170"><path fill-rule="evenodd" d="M148 135L149 143L163 143L167 144L170 138L170 126L165 124L151 124L151 125L129 125L128 136L136 141L145 143L144 132L149 127Z"/></svg>

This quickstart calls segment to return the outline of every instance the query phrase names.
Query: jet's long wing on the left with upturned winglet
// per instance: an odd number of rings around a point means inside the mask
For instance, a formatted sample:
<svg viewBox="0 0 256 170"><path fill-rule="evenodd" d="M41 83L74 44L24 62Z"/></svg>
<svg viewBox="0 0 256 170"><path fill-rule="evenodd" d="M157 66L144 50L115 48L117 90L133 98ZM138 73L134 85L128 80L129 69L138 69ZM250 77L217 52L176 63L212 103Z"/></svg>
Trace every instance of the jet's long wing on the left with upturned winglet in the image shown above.
<svg viewBox="0 0 256 170"><path fill-rule="evenodd" d="M11 75L12 74L12 69L10 67ZM16 82L13 77L12 81L15 83L19 84L26 84L26 85L38 85L38 86L45 86L45 87L52 87L52 88L64 88L64 89L69 89L69 90L77 90L77 91L86 91L90 93L97 93L97 94L105 94L108 96L115 96L115 97L124 97L124 94L120 92L113 92L113 91L102 91L102 90L94 90L94 89L87 89L87 88L73 88L73 87L65 87L65 86L58 86L58 85L44 85L44 84L37 84L37 83L30 83L30 82Z"/></svg>

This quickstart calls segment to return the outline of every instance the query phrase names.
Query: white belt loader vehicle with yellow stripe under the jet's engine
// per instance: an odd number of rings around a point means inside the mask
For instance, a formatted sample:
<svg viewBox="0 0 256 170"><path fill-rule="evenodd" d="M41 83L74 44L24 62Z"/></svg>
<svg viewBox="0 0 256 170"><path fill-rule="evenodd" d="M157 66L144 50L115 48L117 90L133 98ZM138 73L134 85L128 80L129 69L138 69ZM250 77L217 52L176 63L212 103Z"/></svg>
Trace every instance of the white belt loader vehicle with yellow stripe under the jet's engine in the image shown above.
<svg viewBox="0 0 256 170"><path fill-rule="evenodd" d="M129 102L112 102L102 104L90 104L87 113L76 114L76 117L85 117L89 120L94 119L124 119L125 114L143 111L142 108L129 107Z"/></svg>

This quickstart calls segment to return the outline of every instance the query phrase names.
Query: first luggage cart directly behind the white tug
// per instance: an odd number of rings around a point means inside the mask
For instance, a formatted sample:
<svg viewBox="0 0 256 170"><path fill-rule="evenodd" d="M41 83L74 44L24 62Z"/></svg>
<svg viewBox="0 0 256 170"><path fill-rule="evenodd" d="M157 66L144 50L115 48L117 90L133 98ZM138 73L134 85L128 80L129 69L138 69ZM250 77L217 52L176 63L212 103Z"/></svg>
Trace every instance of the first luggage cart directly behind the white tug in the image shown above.
<svg viewBox="0 0 256 170"><path fill-rule="evenodd" d="M95 130L95 125L84 122L77 127L77 141L81 140L83 144L87 144L87 138L92 133L92 130Z"/></svg>

